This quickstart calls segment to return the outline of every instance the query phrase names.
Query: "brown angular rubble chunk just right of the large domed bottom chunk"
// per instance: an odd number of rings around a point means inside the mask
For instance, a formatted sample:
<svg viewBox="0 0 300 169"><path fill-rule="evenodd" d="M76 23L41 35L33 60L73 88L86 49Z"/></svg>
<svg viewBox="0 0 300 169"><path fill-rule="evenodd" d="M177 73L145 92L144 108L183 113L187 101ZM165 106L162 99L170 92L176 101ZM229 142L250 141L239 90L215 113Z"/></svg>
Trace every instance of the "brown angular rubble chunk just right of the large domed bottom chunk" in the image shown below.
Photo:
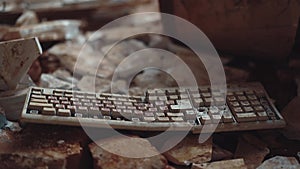
<svg viewBox="0 0 300 169"><path fill-rule="evenodd" d="M165 152L165 157L177 165L210 161L212 156L212 138L209 138L202 144L199 143L198 138L198 135L186 136L179 144Z"/></svg>

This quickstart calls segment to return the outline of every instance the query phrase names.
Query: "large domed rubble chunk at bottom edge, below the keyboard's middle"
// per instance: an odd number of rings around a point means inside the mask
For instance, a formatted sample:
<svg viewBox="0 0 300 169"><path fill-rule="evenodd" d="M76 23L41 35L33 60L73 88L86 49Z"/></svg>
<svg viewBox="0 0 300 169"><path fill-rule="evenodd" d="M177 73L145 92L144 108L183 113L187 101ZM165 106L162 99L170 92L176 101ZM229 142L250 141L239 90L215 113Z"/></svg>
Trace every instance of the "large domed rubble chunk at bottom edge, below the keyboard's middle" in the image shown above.
<svg viewBox="0 0 300 169"><path fill-rule="evenodd" d="M167 160L147 139L114 137L99 140L89 147L94 159L94 169L167 167Z"/></svg>

